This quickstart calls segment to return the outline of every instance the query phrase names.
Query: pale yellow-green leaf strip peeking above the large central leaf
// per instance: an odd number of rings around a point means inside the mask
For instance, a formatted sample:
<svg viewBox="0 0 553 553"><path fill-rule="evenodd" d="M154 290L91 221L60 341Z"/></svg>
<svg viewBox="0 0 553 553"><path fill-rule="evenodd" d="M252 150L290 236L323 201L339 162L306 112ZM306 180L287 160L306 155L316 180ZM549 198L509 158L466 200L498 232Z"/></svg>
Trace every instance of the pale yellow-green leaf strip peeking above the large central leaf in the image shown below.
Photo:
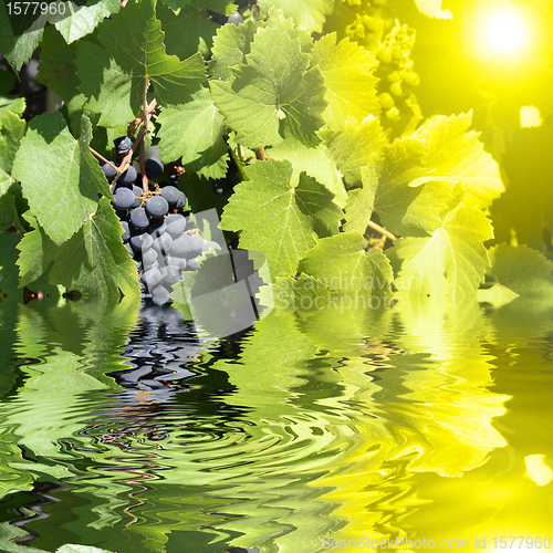
<svg viewBox="0 0 553 553"><path fill-rule="evenodd" d="M322 144L316 148L309 148L286 132L284 140L268 149L267 155L271 159L288 159L294 169L293 181L300 178L300 173L305 171L334 194L337 206L345 207L347 192L336 166L326 156Z"/></svg>

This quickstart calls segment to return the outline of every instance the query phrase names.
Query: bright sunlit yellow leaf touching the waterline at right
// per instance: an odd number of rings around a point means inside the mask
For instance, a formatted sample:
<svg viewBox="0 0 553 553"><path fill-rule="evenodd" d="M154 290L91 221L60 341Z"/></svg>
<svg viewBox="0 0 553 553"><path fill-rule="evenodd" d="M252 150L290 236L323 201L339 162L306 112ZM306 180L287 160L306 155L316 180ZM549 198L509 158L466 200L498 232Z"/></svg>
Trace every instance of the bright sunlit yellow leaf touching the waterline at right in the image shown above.
<svg viewBox="0 0 553 553"><path fill-rule="evenodd" d="M483 242L492 237L486 215L462 206L431 237L400 238L394 244L394 254L401 262L395 282L399 293L410 300L458 303L474 298L489 267Z"/></svg>

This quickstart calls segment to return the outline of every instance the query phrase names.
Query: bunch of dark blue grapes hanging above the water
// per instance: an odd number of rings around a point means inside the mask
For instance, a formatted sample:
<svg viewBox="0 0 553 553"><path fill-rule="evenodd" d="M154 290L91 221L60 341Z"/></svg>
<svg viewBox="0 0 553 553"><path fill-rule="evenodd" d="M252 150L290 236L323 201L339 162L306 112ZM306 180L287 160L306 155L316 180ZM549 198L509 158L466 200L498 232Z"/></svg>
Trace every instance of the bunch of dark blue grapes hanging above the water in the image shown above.
<svg viewBox="0 0 553 553"><path fill-rule="evenodd" d="M131 150L131 139L117 138L115 147L119 156L125 156ZM101 166L106 178L113 180L116 171L108 164ZM160 159L146 159L148 179L163 173ZM159 182L159 194L145 199L137 182L142 182L142 176L131 166L115 184L112 206L123 226L123 243L137 262L144 292L161 305L169 302L171 288L184 279L185 272L199 270L204 253L221 247L205 241L189 217L185 217L186 196L177 187Z"/></svg>

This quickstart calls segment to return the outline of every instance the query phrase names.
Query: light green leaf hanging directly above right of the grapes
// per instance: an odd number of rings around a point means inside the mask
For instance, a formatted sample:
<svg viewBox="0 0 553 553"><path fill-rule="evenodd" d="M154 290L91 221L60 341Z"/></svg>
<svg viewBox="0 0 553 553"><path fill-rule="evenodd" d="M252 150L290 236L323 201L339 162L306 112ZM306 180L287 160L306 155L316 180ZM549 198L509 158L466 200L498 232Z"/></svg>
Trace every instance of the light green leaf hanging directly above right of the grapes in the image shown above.
<svg viewBox="0 0 553 553"><path fill-rule="evenodd" d="M157 118L161 159L169 163L181 157L187 171L223 178L228 159L223 121L207 88L195 94L192 102L165 107Z"/></svg>

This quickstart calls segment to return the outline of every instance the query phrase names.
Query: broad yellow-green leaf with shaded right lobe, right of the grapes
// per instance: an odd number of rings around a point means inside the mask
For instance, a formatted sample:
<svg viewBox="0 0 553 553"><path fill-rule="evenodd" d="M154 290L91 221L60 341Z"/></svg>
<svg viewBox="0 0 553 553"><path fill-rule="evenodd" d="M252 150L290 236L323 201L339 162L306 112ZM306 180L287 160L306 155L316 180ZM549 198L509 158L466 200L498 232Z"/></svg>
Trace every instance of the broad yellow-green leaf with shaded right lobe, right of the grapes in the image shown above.
<svg viewBox="0 0 553 553"><path fill-rule="evenodd" d="M337 223L341 217L327 206L328 191L322 185L305 175L293 184L292 174L286 160L252 164L221 219L225 230L243 229L240 247L267 255L273 278L294 274L298 261L316 243L314 228L332 227L332 218Z"/></svg>

